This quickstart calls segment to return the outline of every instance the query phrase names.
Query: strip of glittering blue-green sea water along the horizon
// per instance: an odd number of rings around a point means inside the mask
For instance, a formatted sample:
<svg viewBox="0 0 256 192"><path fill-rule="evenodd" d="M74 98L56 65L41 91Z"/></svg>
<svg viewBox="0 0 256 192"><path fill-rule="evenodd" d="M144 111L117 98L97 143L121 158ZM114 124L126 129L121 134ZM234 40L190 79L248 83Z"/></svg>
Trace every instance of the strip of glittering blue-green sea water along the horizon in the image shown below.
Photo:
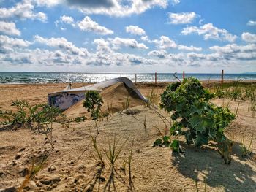
<svg viewBox="0 0 256 192"><path fill-rule="evenodd" d="M173 73L174 74L174 73ZM175 80L173 74L157 74L157 82ZM182 74L176 74L182 79ZM199 80L220 80L221 74L186 74L186 77ZM93 73L61 73L61 72L0 72L0 83L48 83L48 82L101 82L116 77L128 77L135 82L135 74L93 74ZM137 74L137 82L154 82L155 74ZM224 80L256 80L256 74L224 74Z"/></svg>

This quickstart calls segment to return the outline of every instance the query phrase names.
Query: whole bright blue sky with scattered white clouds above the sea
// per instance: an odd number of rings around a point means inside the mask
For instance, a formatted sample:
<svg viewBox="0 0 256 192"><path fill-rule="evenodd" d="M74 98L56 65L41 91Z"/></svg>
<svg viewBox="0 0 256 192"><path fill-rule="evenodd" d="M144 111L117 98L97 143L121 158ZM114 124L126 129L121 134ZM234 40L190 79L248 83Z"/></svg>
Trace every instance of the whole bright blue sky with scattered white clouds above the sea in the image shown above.
<svg viewBox="0 0 256 192"><path fill-rule="evenodd" d="M255 0L0 0L1 72L256 72Z"/></svg>

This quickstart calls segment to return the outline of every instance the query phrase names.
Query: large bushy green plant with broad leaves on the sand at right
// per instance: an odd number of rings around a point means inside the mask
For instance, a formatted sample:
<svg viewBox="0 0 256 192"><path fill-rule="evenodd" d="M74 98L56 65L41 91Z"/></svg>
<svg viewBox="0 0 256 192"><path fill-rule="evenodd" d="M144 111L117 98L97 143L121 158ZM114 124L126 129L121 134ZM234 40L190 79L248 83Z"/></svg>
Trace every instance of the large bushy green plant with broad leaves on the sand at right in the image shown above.
<svg viewBox="0 0 256 192"><path fill-rule="evenodd" d="M168 85L161 95L160 107L172 112L174 123L170 127L170 135L184 135L187 144L197 147L207 145L210 140L226 144L223 141L228 139L224 131L235 115L228 109L211 104L209 101L213 97L193 77ZM177 144L173 143L173 146Z"/></svg>

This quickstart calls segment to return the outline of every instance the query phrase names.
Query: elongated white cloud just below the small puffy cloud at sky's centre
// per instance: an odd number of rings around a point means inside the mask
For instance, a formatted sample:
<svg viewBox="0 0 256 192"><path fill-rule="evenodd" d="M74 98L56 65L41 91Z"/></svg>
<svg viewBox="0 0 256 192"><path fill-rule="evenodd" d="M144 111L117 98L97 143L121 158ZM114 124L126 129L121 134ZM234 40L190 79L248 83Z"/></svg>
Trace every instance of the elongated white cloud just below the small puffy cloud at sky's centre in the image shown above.
<svg viewBox="0 0 256 192"><path fill-rule="evenodd" d="M121 46L148 49L146 45L144 45L143 43L137 42L135 39L124 39L124 38L116 37L115 39L109 39L109 41L113 45L114 49L119 49Z"/></svg>

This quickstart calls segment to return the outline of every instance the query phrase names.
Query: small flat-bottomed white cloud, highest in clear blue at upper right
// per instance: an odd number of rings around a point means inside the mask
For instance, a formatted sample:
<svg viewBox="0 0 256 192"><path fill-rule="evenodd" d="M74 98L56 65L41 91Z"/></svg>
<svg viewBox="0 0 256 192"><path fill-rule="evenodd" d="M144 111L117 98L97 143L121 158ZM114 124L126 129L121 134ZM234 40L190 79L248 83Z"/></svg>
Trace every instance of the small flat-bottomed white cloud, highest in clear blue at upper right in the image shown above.
<svg viewBox="0 0 256 192"><path fill-rule="evenodd" d="M195 18L197 17L197 14L195 12L180 12L180 13L168 13L169 22L171 24L187 24L192 23Z"/></svg>

